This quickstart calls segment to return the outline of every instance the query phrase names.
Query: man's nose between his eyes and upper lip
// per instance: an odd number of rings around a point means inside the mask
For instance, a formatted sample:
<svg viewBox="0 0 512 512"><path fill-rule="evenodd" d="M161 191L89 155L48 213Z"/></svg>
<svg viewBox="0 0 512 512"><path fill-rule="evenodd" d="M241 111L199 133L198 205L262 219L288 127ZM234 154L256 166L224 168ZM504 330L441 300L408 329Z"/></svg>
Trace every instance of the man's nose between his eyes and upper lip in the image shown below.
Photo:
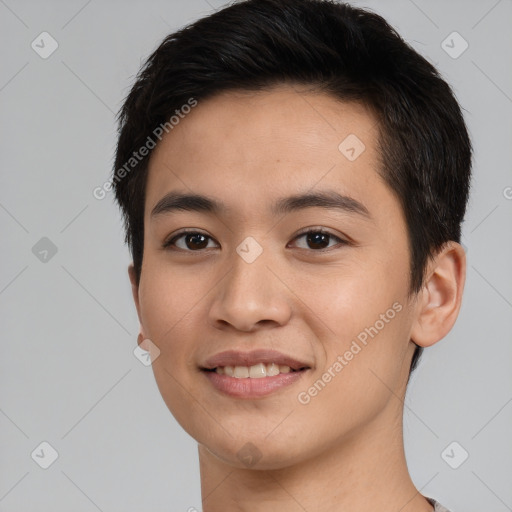
<svg viewBox="0 0 512 512"><path fill-rule="evenodd" d="M270 259L263 251L248 263L233 251L228 262L231 270L215 288L209 311L210 322L216 328L250 332L289 321L292 297L276 277L279 272Z"/></svg>

